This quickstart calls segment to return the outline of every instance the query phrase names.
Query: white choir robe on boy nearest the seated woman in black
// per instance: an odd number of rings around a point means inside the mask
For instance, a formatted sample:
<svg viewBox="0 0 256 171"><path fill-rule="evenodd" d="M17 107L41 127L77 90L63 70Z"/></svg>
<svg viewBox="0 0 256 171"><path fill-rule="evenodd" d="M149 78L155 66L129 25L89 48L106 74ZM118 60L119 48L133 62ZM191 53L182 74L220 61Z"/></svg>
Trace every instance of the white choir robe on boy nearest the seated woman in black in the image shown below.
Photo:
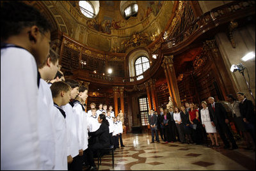
<svg viewBox="0 0 256 171"><path fill-rule="evenodd" d="M88 124L86 112L83 111L81 103L75 103L73 108L74 114L76 114L79 149L83 149L84 151L88 148Z"/></svg>

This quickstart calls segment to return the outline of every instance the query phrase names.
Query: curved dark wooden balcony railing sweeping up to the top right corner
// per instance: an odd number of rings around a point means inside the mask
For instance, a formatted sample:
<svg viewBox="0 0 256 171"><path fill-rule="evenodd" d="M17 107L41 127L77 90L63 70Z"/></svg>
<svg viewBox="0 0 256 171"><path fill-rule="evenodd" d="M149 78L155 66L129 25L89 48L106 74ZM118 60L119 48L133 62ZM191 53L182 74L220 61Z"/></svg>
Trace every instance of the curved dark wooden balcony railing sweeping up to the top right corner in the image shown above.
<svg viewBox="0 0 256 171"><path fill-rule="evenodd" d="M214 27L225 24L230 20L240 19L253 14L255 14L255 1L233 1L232 3L214 8L191 22L188 29L182 31L174 38L166 39L162 43L161 50L163 54L176 52Z"/></svg>

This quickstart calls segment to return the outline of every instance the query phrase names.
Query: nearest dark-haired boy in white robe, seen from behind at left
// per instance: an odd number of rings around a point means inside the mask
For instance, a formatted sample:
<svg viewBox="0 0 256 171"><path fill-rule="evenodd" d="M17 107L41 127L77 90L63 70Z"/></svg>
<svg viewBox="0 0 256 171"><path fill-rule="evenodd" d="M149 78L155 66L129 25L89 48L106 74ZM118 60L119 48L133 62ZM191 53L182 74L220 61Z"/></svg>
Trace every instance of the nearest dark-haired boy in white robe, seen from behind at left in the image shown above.
<svg viewBox="0 0 256 171"><path fill-rule="evenodd" d="M50 30L49 22L32 6L1 2L1 170L42 169L37 65L49 54ZM15 107L10 103L14 97L19 97Z"/></svg>

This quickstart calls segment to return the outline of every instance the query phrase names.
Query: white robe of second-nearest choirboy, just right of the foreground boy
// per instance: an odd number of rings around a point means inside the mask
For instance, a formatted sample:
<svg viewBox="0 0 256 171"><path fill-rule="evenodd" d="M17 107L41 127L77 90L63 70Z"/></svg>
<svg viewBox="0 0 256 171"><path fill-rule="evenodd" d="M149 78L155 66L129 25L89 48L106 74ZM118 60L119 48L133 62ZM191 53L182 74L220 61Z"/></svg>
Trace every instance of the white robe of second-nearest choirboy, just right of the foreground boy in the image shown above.
<svg viewBox="0 0 256 171"><path fill-rule="evenodd" d="M55 166L56 138L53 111L54 105L51 89L47 82L40 78L38 91L38 133L43 170L53 170Z"/></svg>

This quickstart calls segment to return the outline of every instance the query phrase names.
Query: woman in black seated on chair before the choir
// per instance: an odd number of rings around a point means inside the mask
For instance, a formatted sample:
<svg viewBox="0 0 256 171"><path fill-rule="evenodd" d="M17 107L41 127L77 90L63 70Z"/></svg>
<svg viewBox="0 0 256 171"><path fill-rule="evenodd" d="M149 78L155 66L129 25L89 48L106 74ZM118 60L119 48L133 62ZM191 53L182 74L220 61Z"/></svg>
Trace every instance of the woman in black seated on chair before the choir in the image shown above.
<svg viewBox="0 0 256 171"><path fill-rule="evenodd" d="M93 160L93 153L98 151L99 149L108 148L109 143L109 123L106 120L106 115L100 114L98 117L98 122L100 124L100 128L97 131L89 132L88 136L97 137L97 142L95 144L88 145L86 149L86 159L88 160L88 164L90 165L91 170L96 170L97 167Z"/></svg>

